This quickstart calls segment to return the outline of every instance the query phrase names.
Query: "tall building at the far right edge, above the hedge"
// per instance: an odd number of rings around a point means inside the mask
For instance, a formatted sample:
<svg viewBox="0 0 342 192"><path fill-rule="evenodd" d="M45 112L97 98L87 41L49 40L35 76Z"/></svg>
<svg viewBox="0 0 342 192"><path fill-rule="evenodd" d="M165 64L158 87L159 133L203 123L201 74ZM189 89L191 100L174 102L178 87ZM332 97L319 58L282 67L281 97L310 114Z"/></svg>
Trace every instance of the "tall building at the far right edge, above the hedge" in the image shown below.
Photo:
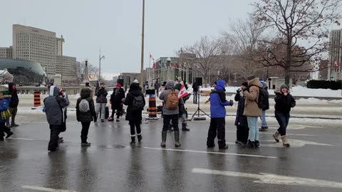
<svg viewBox="0 0 342 192"><path fill-rule="evenodd" d="M328 68L328 80L341 80L342 79L342 29L333 30L330 33L330 46L329 53L330 66ZM338 66L336 66L336 63ZM336 66L336 68L335 68Z"/></svg>

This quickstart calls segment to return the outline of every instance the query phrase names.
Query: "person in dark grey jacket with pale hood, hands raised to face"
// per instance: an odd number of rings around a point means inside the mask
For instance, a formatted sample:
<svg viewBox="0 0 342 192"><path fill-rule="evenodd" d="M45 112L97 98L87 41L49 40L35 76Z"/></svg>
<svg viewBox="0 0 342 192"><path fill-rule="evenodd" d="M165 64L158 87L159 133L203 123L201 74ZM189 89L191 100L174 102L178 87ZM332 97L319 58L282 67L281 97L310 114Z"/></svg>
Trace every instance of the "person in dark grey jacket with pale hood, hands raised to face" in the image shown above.
<svg viewBox="0 0 342 192"><path fill-rule="evenodd" d="M50 87L49 96L44 100L46 119L50 127L50 142L48 142L48 151L58 149L58 139L61 129L63 129L63 108L69 105L66 97L59 97L59 88Z"/></svg>

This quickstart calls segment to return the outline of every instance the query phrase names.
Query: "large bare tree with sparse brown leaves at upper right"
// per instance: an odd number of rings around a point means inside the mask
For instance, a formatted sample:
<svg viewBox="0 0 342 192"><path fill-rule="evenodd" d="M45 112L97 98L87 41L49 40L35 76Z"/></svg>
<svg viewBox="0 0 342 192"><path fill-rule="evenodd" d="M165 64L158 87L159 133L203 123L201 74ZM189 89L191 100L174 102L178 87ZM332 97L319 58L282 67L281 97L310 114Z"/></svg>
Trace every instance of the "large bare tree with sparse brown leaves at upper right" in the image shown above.
<svg viewBox="0 0 342 192"><path fill-rule="evenodd" d="M342 0L259 0L253 4L254 18L263 22L269 34L280 41L264 41L269 46L269 58L259 54L265 66L284 68L285 83L289 85L292 72L312 71L301 67L308 62L321 60L328 51L329 29L332 23L340 25L338 8ZM301 46L299 46L301 44ZM305 46L304 46L305 45ZM276 54L285 48L284 55ZM298 48L301 51L297 51ZM260 53L260 52L259 52ZM266 63L266 64L265 64Z"/></svg>

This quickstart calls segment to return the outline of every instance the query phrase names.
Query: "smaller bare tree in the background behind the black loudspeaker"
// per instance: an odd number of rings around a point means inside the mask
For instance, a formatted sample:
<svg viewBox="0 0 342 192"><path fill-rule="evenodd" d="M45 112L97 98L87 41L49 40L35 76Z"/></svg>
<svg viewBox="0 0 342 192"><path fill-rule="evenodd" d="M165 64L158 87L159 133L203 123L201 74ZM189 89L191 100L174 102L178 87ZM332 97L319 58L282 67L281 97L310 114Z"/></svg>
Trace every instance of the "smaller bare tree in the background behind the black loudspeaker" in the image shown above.
<svg viewBox="0 0 342 192"><path fill-rule="evenodd" d="M202 70L204 85L209 82L209 74L219 60L218 55L222 54L221 43L220 40L210 39L204 36L193 46L186 46L184 49L185 53L196 55L195 63Z"/></svg>

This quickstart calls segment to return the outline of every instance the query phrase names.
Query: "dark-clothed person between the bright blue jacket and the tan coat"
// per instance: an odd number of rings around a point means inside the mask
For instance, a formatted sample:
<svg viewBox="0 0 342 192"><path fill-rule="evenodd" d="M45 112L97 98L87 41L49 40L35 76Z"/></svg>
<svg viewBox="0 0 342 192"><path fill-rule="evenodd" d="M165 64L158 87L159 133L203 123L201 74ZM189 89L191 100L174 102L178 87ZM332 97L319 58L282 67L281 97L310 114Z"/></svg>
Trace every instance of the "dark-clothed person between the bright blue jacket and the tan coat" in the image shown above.
<svg viewBox="0 0 342 192"><path fill-rule="evenodd" d="M242 90L247 89L248 82L242 82L241 87L237 90L234 100L239 102L237 105L237 117L235 118L235 126L237 126L237 141L236 144L247 144L248 141L248 123L247 117L244 116L244 102L246 97L242 95Z"/></svg>

